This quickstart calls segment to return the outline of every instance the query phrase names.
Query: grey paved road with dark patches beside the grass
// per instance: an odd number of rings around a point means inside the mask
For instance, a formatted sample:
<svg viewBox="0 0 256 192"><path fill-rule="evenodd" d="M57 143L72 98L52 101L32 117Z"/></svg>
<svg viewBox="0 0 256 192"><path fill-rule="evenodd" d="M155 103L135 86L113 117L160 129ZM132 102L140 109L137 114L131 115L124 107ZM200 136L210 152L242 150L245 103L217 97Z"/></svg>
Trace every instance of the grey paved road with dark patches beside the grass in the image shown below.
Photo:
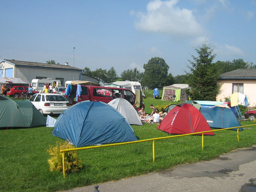
<svg viewBox="0 0 256 192"><path fill-rule="evenodd" d="M98 184L100 192L256 192L256 145L219 158ZM93 192L94 185L66 192Z"/></svg>

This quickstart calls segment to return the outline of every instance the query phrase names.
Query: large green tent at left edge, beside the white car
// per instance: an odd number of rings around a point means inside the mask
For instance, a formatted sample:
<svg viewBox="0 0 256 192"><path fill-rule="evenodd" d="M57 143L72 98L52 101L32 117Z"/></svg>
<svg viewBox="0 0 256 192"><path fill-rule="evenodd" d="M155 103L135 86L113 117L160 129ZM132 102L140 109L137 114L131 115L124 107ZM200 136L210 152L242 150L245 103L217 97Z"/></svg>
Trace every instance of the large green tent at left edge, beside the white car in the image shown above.
<svg viewBox="0 0 256 192"><path fill-rule="evenodd" d="M46 118L29 101L0 96L0 128L46 125Z"/></svg>

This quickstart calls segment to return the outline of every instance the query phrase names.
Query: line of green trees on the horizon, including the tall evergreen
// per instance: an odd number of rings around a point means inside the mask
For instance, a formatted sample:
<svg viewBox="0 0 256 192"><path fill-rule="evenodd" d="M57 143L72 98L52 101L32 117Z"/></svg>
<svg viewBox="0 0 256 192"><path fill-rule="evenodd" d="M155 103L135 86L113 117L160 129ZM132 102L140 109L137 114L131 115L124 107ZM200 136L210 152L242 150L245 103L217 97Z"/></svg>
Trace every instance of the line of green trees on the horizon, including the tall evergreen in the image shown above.
<svg viewBox="0 0 256 192"><path fill-rule="evenodd" d="M231 61L213 62L216 57L214 47L206 45L195 48L197 55L191 55L188 60L188 71L183 75L172 76L168 74L169 65L163 58L151 58L148 63L143 65L144 72L137 68L124 70L120 76L117 75L114 67L109 70L97 68L92 71L90 68L84 68L84 74L98 79L99 82L111 83L115 81L138 81L148 88L162 88L172 84L188 84L190 86L190 98L193 100L215 100L218 94L219 86L217 79L220 74L230 72L236 69L256 68L252 62L244 62L243 59L234 59ZM48 63L54 63L49 60Z"/></svg>

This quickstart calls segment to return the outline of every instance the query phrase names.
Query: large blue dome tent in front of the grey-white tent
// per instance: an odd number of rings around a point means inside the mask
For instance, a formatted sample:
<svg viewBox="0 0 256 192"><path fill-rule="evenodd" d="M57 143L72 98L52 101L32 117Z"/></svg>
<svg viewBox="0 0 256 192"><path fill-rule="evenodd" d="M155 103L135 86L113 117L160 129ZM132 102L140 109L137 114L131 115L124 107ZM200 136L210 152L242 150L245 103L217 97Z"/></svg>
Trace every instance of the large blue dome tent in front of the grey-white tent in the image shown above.
<svg viewBox="0 0 256 192"><path fill-rule="evenodd" d="M138 140L127 120L104 102L84 101L58 117L52 135L76 147Z"/></svg>

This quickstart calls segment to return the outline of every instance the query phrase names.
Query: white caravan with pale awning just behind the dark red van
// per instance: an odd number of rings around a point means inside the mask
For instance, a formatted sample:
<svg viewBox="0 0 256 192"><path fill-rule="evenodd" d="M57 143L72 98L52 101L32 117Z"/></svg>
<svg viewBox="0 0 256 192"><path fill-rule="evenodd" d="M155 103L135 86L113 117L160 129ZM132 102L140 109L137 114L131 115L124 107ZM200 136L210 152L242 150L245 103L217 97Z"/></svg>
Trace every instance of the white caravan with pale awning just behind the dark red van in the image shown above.
<svg viewBox="0 0 256 192"><path fill-rule="evenodd" d="M117 87L131 90L136 94L137 90L142 90L141 84L136 81L116 81L113 83L105 84L105 87Z"/></svg>

